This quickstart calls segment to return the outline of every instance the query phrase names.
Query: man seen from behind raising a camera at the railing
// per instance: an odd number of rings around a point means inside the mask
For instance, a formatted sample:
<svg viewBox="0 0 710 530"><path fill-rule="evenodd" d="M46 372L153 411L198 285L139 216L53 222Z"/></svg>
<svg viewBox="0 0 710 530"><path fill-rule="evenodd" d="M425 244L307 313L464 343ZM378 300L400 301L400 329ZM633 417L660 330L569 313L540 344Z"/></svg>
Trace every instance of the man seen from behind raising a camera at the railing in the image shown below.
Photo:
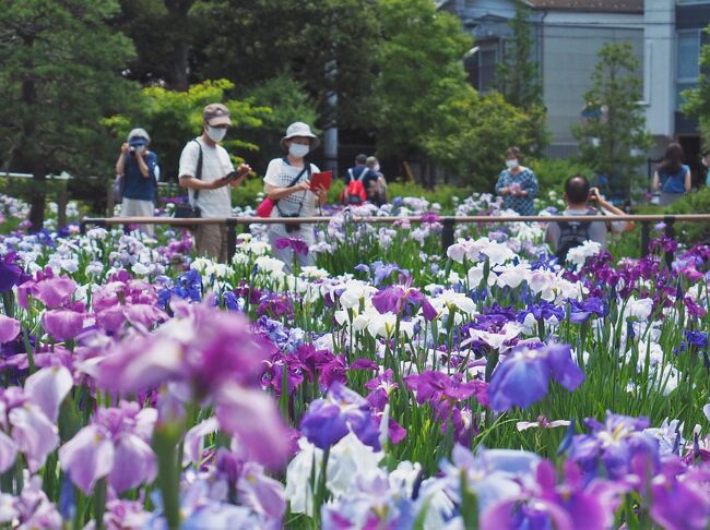
<svg viewBox="0 0 710 530"><path fill-rule="evenodd" d="M583 174L576 174L565 181L565 202L567 209L560 215L624 215L624 212L607 202L596 188L591 188L589 180ZM612 231L620 233L634 228L632 222L626 221L561 221L547 225L545 240L560 263L567 257L567 252L584 241L596 241L606 249L606 233Z"/></svg>

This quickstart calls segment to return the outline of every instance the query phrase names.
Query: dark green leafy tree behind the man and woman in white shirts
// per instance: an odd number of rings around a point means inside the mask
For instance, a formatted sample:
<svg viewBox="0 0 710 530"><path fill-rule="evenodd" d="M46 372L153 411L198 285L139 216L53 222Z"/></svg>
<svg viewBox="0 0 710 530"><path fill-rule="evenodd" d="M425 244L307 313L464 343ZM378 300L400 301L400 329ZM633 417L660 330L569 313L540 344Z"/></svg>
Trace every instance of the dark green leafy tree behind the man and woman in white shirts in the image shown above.
<svg viewBox="0 0 710 530"><path fill-rule="evenodd" d="M300 83L316 103L320 123L367 127L379 40L376 0L202 0L205 21L194 47L201 79L225 77L242 94L282 74ZM328 103L338 94L338 106Z"/></svg>

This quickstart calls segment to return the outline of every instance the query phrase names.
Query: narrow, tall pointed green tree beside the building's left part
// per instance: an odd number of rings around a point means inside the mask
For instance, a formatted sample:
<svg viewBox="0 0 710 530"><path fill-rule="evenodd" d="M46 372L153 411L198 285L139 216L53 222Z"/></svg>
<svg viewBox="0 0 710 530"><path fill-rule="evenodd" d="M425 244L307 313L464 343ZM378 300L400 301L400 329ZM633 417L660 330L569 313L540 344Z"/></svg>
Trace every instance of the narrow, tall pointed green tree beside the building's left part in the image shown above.
<svg viewBox="0 0 710 530"><path fill-rule="evenodd" d="M530 8L522 0L516 0L516 14L509 26L512 36L505 40L504 58L496 69L496 82L506 101L524 109L532 118L535 142L531 148L540 154L549 143L549 134L545 129L542 80L533 55Z"/></svg>

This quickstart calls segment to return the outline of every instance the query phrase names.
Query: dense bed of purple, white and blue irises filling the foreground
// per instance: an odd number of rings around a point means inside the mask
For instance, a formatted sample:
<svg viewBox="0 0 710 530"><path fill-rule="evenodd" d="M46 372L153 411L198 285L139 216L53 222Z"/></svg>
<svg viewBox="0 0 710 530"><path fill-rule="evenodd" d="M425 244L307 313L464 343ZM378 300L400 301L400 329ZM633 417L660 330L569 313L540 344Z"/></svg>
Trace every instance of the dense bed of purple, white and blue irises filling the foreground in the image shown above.
<svg viewBox="0 0 710 530"><path fill-rule="evenodd" d="M489 196L459 213L497 213ZM537 226L404 198L284 273L190 238L0 240L0 522L706 528L710 248L565 267ZM97 523L98 522L98 523Z"/></svg>

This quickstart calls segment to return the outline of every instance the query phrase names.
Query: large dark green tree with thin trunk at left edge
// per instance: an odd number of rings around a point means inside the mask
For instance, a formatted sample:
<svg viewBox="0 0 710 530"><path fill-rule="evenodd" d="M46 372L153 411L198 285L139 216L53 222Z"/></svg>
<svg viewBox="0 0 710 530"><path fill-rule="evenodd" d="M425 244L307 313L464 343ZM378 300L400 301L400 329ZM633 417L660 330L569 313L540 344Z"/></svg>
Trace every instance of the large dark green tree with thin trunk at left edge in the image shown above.
<svg viewBox="0 0 710 530"><path fill-rule="evenodd" d="M133 56L106 21L118 2L4 1L0 9L0 158L34 174L29 220L44 222L49 172L106 174L110 138L100 118L137 91L120 72Z"/></svg>

